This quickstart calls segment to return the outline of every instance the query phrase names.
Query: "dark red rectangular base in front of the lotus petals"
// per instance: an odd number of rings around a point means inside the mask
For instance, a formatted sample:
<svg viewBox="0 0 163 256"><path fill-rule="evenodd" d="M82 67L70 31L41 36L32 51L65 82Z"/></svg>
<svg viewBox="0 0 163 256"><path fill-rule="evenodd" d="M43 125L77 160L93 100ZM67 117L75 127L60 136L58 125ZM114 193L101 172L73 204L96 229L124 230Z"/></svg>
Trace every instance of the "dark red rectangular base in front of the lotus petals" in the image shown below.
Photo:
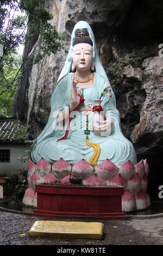
<svg viewBox="0 0 163 256"><path fill-rule="evenodd" d="M36 184L37 209L31 215L48 218L126 219L123 187Z"/></svg>

